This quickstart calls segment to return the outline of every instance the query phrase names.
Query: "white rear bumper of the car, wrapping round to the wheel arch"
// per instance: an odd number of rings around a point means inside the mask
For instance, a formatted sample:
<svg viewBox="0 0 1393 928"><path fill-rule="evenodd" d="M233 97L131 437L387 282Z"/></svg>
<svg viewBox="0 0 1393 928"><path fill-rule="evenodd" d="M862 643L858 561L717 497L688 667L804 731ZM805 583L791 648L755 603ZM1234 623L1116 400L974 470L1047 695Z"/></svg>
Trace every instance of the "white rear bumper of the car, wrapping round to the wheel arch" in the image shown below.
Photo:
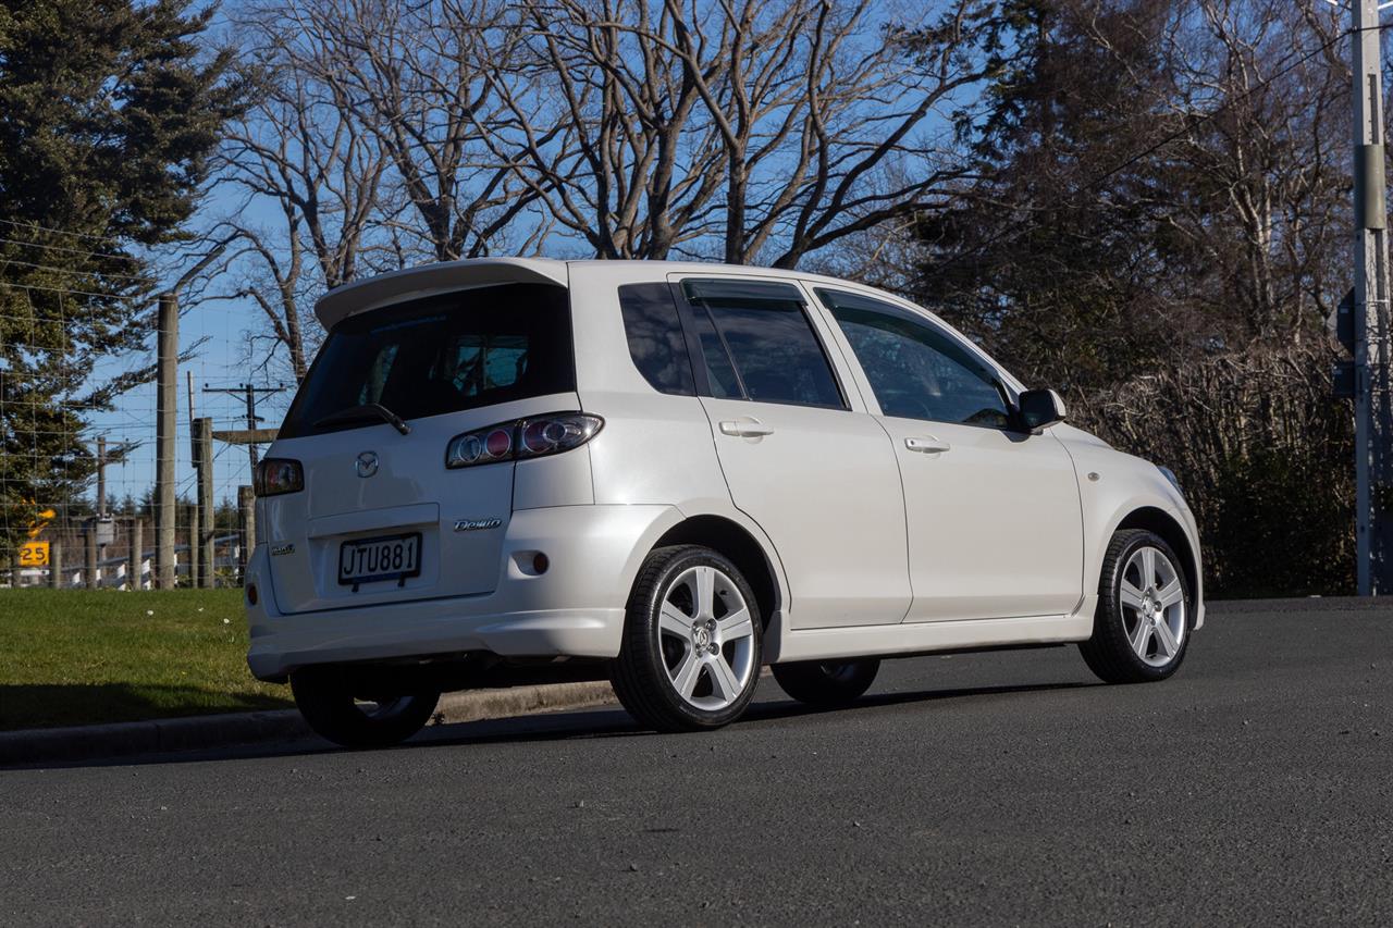
<svg viewBox="0 0 1393 928"><path fill-rule="evenodd" d="M614 658L638 566L680 514L669 506L559 506L513 513L492 594L283 614L265 546L248 564L247 665L262 680L298 667L488 651L503 656ZM520 562L545 552L545 574ZM514 557L514 555L520 555Z"/></svg>

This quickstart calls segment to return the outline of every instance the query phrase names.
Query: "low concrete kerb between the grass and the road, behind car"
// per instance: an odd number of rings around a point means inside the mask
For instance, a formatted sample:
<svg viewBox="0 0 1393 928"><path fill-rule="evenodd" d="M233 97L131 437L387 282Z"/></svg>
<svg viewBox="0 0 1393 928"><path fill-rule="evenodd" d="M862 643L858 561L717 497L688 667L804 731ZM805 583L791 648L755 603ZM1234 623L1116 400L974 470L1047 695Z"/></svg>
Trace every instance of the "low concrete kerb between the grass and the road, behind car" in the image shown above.
<svg viewBox="0 0 1393 928"><path fill-rule="evenodd" d="M450 693L440 698L432 725L503 719L613 705L609 683L559 683L507 690ZM311 737L294 709L227 712L181 719L150 719L67 729L0 732L0 765L46 761L92 761L240 744L269 744Z"/></svg>

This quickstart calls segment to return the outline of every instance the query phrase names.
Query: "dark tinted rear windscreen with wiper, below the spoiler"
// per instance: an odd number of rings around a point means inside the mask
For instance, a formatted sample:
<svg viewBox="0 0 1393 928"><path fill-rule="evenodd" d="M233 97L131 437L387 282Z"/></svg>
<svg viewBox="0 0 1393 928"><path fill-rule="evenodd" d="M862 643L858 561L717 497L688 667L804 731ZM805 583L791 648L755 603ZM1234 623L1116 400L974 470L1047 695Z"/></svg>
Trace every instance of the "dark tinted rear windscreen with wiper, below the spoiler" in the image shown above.
<svg viewBox="0 0 1393 928"><path fill-rule="evenodd" d="M503 284L348 316L330 332L280 438L372 425L316 425L378 403L403 419L575 390L566 290Z"/></svg>

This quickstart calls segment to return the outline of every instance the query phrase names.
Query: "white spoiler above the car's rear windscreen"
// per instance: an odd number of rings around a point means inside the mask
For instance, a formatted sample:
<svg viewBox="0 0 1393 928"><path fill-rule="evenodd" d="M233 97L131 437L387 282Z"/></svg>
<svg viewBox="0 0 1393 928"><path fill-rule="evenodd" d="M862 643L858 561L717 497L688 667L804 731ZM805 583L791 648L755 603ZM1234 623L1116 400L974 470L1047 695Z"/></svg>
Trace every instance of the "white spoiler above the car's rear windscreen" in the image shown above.
<svg viewBox="0 0 1393 928"><path fill-rule="evenodd" d="M315 315L325 329L332 329L344 316L403 300L503 283L546 283L566 287L568 280L566 262L547 258L444 261L334 287L315 301Z"/></svg>

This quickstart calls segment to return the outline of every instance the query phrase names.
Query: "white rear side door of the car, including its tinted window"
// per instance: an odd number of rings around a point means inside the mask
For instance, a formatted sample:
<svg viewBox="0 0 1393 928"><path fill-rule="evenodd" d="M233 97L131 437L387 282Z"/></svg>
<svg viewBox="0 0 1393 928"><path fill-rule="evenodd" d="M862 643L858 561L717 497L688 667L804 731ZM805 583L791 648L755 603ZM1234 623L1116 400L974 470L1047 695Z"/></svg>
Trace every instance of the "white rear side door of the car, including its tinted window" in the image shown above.
<svg viewBox="0 0 1393 928"><path fill-rule="evenodd" d="M854 408L805 291L777 280L674 283L731 499L775 543L791 627L901 621L911 591L894 449Z"/></svg>

